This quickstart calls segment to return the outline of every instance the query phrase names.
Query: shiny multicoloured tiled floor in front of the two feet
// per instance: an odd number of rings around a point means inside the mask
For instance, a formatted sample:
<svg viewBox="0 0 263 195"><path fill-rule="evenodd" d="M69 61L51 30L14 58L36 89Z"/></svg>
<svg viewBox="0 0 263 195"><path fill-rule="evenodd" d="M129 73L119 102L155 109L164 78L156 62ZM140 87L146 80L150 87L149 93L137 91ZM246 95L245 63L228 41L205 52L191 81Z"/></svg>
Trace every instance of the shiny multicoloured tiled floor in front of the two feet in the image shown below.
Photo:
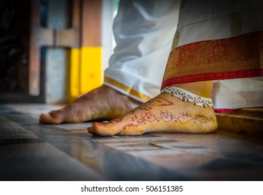
<svg viewBox="0 0 263 195"><path fill-rule="evenodd" d="M0 180L263 180L263 139L214 134L97 137L41 125L58 106L0 105Z"/></svg>

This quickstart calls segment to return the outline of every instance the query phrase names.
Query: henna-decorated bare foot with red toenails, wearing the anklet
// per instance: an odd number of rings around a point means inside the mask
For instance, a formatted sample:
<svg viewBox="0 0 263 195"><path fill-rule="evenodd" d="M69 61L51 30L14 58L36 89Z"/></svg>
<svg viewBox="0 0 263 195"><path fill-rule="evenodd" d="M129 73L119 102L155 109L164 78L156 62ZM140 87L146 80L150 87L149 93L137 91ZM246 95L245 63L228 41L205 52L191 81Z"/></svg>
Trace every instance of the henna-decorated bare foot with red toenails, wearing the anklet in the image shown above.
<svg viewBox="0 0 263 195"><path fill-rule="evenodd" d="M200 91L195 86L184 87L199 91L198 95L209 97L207 91L210 88ZM88 127L88 132L102 136L140 135L149 132L211 133L216 128L216 116L212 107L199 107L193 102L175 98L171 93L161 93L109 123L93 123L92 127Z"/></svg>

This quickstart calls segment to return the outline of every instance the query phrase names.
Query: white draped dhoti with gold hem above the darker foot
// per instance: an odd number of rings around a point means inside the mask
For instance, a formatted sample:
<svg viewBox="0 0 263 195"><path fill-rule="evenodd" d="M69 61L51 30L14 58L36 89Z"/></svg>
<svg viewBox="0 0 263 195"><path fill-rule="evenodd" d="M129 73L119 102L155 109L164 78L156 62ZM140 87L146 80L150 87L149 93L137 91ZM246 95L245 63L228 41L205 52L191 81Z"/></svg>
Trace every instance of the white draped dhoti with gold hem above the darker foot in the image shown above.
<svg viewBox="0 0 263 195"><path fill-rule="evenodd" d="M179 8L180 1L174 0L120 1L105 85L140 102L159 94Z"/></svg>

